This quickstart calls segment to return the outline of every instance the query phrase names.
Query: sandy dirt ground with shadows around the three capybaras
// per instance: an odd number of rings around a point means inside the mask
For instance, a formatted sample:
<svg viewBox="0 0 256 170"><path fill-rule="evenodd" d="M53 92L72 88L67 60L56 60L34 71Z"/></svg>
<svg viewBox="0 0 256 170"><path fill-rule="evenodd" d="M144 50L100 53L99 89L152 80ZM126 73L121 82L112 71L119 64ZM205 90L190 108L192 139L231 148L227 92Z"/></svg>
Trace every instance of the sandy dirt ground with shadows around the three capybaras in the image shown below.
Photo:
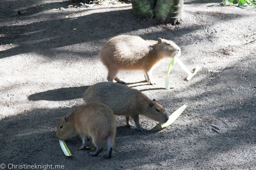
<svg viewBox="0 0 256 170"><path fill-rule="evenodd" d="M131 4L68 8L74 2L0 2L4 169L256 169L256 8L185 0L182 23L171 25L136 19ZM189 70L202 68L187 82L187 74L175 64L170 90L165 90L170 59L154 69L154 86L147 85L141 71L118 73L128 86L161 103L168 114L185 103L188 108L165 129L141 116L140 124L147 129L143 132L126 127L125 118L116 116L112 159L103 157L106 145L97 157L79 150L79 137L67 141L74 156L66 157L55 137L57 125L83 104L86 88L107 81L97 55L110 38L122 34L173 40Z"/></svg>

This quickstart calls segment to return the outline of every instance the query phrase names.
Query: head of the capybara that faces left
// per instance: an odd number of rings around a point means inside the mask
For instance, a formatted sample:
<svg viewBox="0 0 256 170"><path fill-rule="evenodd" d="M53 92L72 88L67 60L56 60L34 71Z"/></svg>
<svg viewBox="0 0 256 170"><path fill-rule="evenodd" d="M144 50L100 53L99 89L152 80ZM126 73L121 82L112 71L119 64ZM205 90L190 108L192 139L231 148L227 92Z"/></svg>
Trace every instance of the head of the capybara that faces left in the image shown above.
<svg viewBox="0 0 256 170"><path fill-rule="evenodd" d="M56 137L59 140L66 140L75 137L76 134L74 121L65 116L57 128Z"/></svg>

